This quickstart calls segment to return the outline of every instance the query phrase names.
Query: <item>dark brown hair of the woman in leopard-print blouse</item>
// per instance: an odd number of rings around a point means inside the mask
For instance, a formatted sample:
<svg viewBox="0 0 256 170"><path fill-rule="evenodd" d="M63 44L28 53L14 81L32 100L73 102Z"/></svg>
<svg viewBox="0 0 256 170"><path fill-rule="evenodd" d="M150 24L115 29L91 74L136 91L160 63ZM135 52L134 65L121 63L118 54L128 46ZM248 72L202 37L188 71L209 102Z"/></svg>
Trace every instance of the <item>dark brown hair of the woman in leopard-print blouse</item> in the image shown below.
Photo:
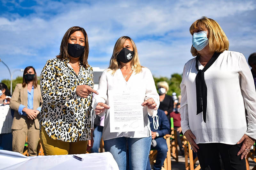
<svg viewBox="0 0 256 170"><path fill-rule="evenodd" d="M84 34L84 53L80 56L79 60L84 65L85 68L88 67L88 54L89 54L89 43L88 43L88 37L87 33L85 32L84 28L80 26L73 26L68 29L68 31L64 34L61 44L60 44L60 54L56 57L63 60L63 59L69 59L68 55L68 39L72 33L75 33L76 31L81 31Z"/></svg>

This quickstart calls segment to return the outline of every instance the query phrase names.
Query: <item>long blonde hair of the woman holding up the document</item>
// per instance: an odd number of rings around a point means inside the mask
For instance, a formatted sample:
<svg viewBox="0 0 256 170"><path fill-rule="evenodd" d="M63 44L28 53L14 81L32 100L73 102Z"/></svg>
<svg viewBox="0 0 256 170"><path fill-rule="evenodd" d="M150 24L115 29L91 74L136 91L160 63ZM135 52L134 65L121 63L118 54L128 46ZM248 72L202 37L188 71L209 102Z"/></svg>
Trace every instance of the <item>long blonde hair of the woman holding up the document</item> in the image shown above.
<svg viewBox="0 0 256 170"><path fill-rule="evenodd" d="M141 72L142 66L140 65L139 55L138 55L137 47L136 47L134 41L132 41L132 39L128 36L122 36L116 41L116 44L115 44L115 47L114 47L114 50L113 50L113 54L112 54L110 62L109 62L108 69L112 70L112 75L115 74L117 69L121 68L121 65L117 61L116 56L123 49L124 43L125 43L126 40L131 41L133 51L134 51L134 56L133 56L132 61L131 61L132 70L135 71L135 74Z"/></svg>

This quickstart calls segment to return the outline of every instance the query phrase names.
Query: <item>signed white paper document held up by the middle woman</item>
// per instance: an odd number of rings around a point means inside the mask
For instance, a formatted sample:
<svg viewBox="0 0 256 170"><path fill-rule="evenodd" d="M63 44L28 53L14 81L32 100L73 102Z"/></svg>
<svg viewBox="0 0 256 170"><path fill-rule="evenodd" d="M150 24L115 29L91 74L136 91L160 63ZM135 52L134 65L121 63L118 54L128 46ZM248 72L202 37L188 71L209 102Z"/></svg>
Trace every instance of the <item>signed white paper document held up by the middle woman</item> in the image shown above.
<svg viewBox="0 0 256 170"><path fill-rule="evenodd" d="M136 93L108 90L110 132L143 131L144 102Z"/></svg>

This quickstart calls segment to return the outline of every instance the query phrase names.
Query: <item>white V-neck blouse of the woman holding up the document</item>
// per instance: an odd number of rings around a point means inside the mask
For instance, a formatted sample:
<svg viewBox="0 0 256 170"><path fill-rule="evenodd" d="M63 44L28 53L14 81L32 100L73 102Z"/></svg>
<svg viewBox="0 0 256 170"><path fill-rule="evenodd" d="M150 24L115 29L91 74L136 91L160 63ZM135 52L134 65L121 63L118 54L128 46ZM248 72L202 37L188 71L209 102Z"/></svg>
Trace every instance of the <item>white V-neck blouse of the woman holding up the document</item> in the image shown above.
<svg viewBox="0 0 256 170"><path fill-rule="evenodd" d="M106 69L103 71L98 92L99 95L95 95L92 101L93 109L96 108L99 102L109 104L108 100L108 90L115 90L116 92L134 92L141 96L143 103L149 98L153 98L159 106L159 95L156 91L155 82L153 76L148 68L143 67L140 73L132 73L129 80L126 80L123 77L123 74L120 69L116 70L115 74L112 75L112 70ZM99 116L105 114L101 113ZM143 117L144 117L144 130L135 131L135 132L114 132L110 133L109 128L109 110L106 110L105 123L103 128L102 138L103 140L113 139L116 137L131 137L131 138L141 138L151 136L151 129L149 127L148 115L156 116L157 110L148 109L148 107L143 107Z"/></svg>

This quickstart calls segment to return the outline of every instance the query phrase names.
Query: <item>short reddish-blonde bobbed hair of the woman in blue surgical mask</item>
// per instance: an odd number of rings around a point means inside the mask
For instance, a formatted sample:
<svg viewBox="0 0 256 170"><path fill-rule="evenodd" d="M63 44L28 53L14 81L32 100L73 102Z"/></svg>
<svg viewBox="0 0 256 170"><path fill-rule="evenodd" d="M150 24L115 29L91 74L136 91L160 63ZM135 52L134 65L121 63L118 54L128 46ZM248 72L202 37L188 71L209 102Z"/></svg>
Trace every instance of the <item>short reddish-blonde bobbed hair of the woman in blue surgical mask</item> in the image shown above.
<svg viewBox="0 0 256 170"><path fill-rule="evenodd" d="M209 39L208 48L211 52L222 53L224 50L228 50L229 42L226 34L221 29L220 25L213 19L202 17L197 19L189 28L191 35L198 29L207 29ZM196 48L191 47L190 50L193 56L199 55Z"/></svg>

